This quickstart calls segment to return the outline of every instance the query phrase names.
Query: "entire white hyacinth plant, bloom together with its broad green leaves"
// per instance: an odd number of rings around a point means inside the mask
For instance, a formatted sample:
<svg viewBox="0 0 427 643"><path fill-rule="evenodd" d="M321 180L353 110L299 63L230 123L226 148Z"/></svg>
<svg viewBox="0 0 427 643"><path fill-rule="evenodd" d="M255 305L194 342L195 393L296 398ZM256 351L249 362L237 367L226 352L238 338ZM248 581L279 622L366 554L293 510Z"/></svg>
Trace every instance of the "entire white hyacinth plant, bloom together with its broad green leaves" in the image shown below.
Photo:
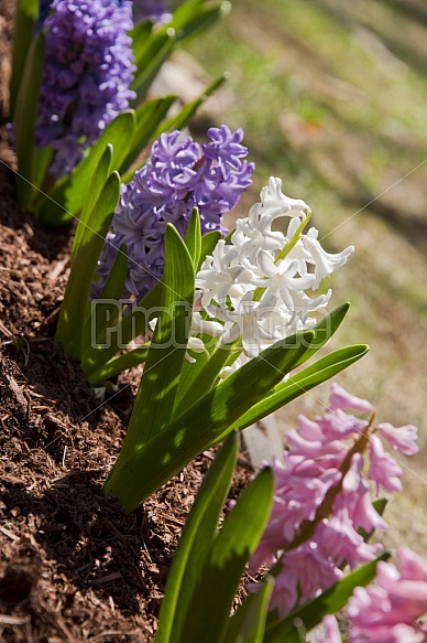
<svg viewBox="0 0 427 643"><path fill-rule="evenodd" d="M196 170L198 169L197 167ZM194 171L193 165L191 170ZM189 172L187 180L193 179ZM261 202L255 206L258 216L253 216L254 211L251 212L251 229L256 238L260 236L266 238L267 248L272 238L275 238L277 249L271 255L274 265L280 266L280 261L287 261L292 251L299 249L305 261L315 264L316 270L316 258L304 247L303 233L298 233L297 239L294 236L288 239L284 233L280 233L282 237L277 237L277 233L272 229L278 216L286 218L287 215L291 221L298 218L296 229L303 229L302 219L307 218L308 206L302 205L303 202L295 205L292 200L287 201L280 185L278 179L272 179L271 187L263 191L266 207L264 208L264 203ZM136 214L138 211L134 212ZM191 225L193 229L196 229L194 216L195 213L191 215ZM134 222L135 218L130 217L127 224L129 221ZM299 323L294 322L292 315L295 311L287 307L286 311L282 312L285 323L283 320L277 321L276 336L267 332L270 329L265 332L262 329L263 332L259 333L259 325L263 324L263 318L260 318L260 321L251 317L250 307L247 310L245 303L255 302L262 306L262 294L267 288L265 280L262 279L264 258L261 261L258 260L263 248L253 247L253 244L248 243L249 235L242 233L243 228L248 229L248 218L238 221L237 231L230 237L231 243L227 243L226 239L219 240L212 255L208 255L202 261L200 271L196 276L196 289L189 296L190 283L194 288L194 270L199 261L201 245L194 243L194 239L188 243L187 237L185 242L179 242L180 237L176 228L169 223L166 224L164 275L162 288L158 291L161 312L157 313L155 324L153 324L154 334L122 450L105 486L106 493L118 496L128 511L135 508L200 450L223 439L234 428L242 429L248 426L248 422L252 424L253 414L255 420L269 415L278 406L286 404L288 399L297 397L304 390L341 371L366 351L365 346L344 349L342 353L337 352L328 356L326 362L320 361L318 366L311 365L298 374L298 377L304 381L304 386L297 386L297 392L295 392L295 383L288 374L296 364L303 363L307 355L311 355L320 345L324 345L338 325L335 322L329 325L332 318L325 318L322 320L325 321L325 328L322 328L326 330L325 341L311 347L317 333L316 329L322 322L317 324L314 318L306 324L311 308L298 310ZM234 234L241 240L240 246L233 243ZM278 244L278 240L282 243ZM282 258L281 250L288 242L289 251ZM244 246L244 250L241 246ZM219 248L218 254L217 248ZM269 253L269 249L265 251ZM341 257L342 262L351 251L352 248L344 250ZM226 256L225 272L229 272L232 277L226 282L227 301L221 302L217 301L216 289L217 282L219 288L225 288L223 275L219 272L212 275L212 269L209 270L208 266L214 266L216 261L218 265L220 258L223 260ZM336 256L327 259L328 270L332 272L339 259L336 261ZM291 259L291 261L295 260L296 257ZM201 271L206 275L204 275L205 282L200 279ZM293 274L293 278L297 278L297 275ZM260 279L262 287L259 286ZM208 285L210 292L204 302ZM293 285L292 281L291 285ZM150 293L156 292L156 289L157 287L151 290L142 301L146 301ZM180 297L177 302L176 293L186 293L185 299ZM299 301L306 301L305 292L299 293L294 287L294 292L289 294L292 302L294 302L292 296L296 297L295 293L299 297ZM247 294L253 297L252 301L245 299ZM308 296L306 298L308 306L313 307L314 300ZM185 306L180 306L180 302ZM195 308L193 313L190 302ZM283 307L286 303L286 300L283 301ZM188 317L184 322L186 312ZM262 312L264 314L269 311L263 309ZM339 320L342 320L344 312L342 309L338 313ZM130 312L127 318L123 318L124 322L132 314ZM221 319L222 314L229 315L229 321L225 322ZM178 319L178 315L179 322L174 331L174 341L171 342L174 328L172 320ZM194 319L193 315L195 315ZM247 323L251 326L249 331ZM298 326L297 334L292 332L295 326ZM200 329L205 331L202 335L199 333ZM210 329L214 336L208 334ZM229 333L236 332L234 329L239 330L234 336L238 337L237 342L242 342L240 346L228 343ZM265 336L267 337L265 342L259 342L260 337ZM206 350L202 349L204 343ZM273 345L270 346L270 344ZM236 347L234 354L231 354L232 346ZM230 368L228 357L236 360L242 350L247 351L244 361L240 364L236 364L234 361L233 372L228 372L227 376L221 378L225 367ZM250 351L251 354L249 354ZM189 361L185 358L188 357L188 353L191 357ZM162 383L163 393L158 393L158 383ZM350 465L349 459L347 468L349 469ZM354 462L354 467L358 471L358 462ZM330 483L325 481L325 484Z"/></svg>

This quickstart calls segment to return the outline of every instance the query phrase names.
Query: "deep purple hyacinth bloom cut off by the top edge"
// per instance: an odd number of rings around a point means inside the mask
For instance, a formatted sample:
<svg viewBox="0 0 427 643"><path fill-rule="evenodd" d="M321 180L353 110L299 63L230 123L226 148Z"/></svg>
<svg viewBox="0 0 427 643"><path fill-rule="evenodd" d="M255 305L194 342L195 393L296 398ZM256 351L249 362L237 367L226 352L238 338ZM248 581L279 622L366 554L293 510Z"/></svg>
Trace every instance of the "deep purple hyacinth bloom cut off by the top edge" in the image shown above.
<svg viewBox="0 0 427 643"><path fill-rule="evenodd" d="M43 15L47 9L45 2ZM54 149L50 171L59 178L135 96L127 35L133 19L130 1L53 0L51 10L35 137L40 148Z"/></svg>

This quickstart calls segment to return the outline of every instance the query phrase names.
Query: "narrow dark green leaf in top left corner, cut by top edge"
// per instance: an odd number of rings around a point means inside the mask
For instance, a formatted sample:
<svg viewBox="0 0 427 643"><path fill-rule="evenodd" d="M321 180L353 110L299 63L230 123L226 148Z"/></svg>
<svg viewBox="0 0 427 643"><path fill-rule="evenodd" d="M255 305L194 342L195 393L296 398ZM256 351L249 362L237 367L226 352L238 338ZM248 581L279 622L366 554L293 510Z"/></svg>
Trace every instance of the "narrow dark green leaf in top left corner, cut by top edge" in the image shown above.
<svg viewBox="0 0 427 643"><path fill-rule="evenodd" d="M14 119L14 109L26 54L31 49L34 25L39 14L39 0L19 0L13 33L12 75L10 79L10 118Z"/></svg>

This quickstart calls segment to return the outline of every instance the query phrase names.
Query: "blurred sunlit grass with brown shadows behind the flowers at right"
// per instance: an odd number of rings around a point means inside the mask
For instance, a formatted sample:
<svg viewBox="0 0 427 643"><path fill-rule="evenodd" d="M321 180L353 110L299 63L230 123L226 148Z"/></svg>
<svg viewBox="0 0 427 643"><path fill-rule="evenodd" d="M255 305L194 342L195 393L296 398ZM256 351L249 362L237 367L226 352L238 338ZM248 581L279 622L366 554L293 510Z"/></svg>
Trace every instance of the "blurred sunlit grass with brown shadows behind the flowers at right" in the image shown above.
<svg viewBox="0 0 427 643"><path fill-rule="evenodd" d="M377 407L379 421L419 427L420 453L397 459L404 494L387 510L387 545L427 548L427 6L423 0L234 0L190 53L230 72L205 116L243 127L258 201L270 175L313 208L326 249L355 246L331 279L350 300L328 349L371 351L338 382ZM199 124L200 125L200 124ZM280 412L319 414L328 385Z"/></svg>

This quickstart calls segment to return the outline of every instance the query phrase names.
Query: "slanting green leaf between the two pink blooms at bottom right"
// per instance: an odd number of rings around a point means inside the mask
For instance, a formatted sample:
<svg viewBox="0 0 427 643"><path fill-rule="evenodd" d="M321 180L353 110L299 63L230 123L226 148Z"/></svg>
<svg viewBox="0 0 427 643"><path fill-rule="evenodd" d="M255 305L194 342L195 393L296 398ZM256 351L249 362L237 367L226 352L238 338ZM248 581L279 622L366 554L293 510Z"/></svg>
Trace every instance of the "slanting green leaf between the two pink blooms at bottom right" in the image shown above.
<svg viewBox="0 0 427 643"><path fill-rule="evenodd" d="M264 643L282 643L284 636L294 628L294 620L300 619L307 631L318 625L327 614L336 614L347 604L355 587L365 587L375 578L376 565L380 560L387 560L390 554L385 551L375 560L351 571L319 597L302 608L295 609L286 619L278 620L277 612L271 612Z"/></svg>

